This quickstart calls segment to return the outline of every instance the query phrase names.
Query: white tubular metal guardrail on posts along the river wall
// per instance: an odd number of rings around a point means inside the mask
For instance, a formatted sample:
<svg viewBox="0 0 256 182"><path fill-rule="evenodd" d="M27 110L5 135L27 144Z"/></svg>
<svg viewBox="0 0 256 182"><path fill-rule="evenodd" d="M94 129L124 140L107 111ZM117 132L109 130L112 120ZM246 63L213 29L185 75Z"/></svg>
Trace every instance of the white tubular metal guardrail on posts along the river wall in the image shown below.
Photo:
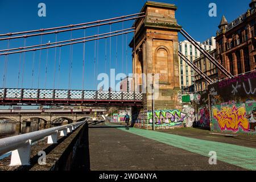
<svg viewBox="0 0 256 182"><path fill-rule="evenodd" d="M14 137L0 139L0 156L11 152L10 166L30 165L31 144L41 139L48 138L47 143L57 143L57 135L61 137L72 133L77 127L84 124L85 121L72 123L65 126L53 127L51 129L35 131L32 133L22 134Z"/></svg>

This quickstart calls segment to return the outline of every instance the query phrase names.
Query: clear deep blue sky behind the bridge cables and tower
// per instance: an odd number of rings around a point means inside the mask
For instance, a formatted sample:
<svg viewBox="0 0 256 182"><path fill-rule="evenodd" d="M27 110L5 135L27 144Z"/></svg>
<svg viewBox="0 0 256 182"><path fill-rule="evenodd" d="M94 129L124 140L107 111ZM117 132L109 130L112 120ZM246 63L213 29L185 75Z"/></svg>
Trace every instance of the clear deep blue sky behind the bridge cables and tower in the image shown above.
<svg viewBox="0 0 256 182"><path fill-rule="evenodd" d="M215 36L217 26L220 23L221 16L225 15L228 21L236 19L239 15L249 9L251 0L159 0L159 2L174 3L178 10L176 11L176 18L178 23L185 28L197 41L203 41L210 36ZM39 18L38 4L40 2L46 3L47 16L46 18ZM44 0L44 1L10 1L0 0L0 34L7 32L34 30L39 28L64 26L68 24L76 24L89 22L92 20L113 18L115 16L128 15L138 13L146 1L142 0L110 0L110 1L60 1L60 0ZM217 17L208 16L209 3L217 4ZM133 22L127 22L125 27L131 27ZM100 28L100 33L108 32L109 26ZM122 24L112 26L112 30L122 28ZM73 32L73 38L83 36L83 31ZM97 28L92 28L86 31L86 35L97 34ZM131 36L127 37L128 42ZM57 40L64 40L70 38L70 33L60 34ZM183 40L183 37L179 37ZM55 35L44 36L43 43L48 41L55 42ZM115 64L115 50L116 38L112 38L112 68L118 67L118 73L122 72L122 36L118 37L118 65ZM11 40L10 47L23 46L24 40ZM40 43L40 38L27 39L27 45ZM124 65L126 65L126 36L124 36ZM0 48L6 48L7 41L0 42ZM109 72L109 39L107 48L108 58L108 71ZM82 88L82 44L73 47L73 69L72 69L72 89ZM105 40L99 42L99 63L97 72L105 72ZM57 49L57 58L58 58ZM59 89L68 88L69 78L69 47L62 49L61 54L61 72L59 84L57 83L56 71L56 86ZM24 64L24 80L23 87L31 88L32 85L32 57L33 53L26 53L26 61ZM47 88L53 87L53 72L54 72L54 57L55 49L51 49L48 55L48 75L47 75ZM23 55L22 55L23 58ZM19 72L19 55L9 56L9 65L7 69L6 86L9 88L16 88ZM39 51L35 53L35 76L34 88L37 88L38 80L38 60ZM127 49L128 72L131 72L131 49ZM23 61L23 59L22 59ZM0 87L3 85L3 72L4 72L5 56L0 56ZM21 67L22 68L22 67ZM42 65L40 69L40 88L44 88L45 72L46 72L46 51L42 51ZM94 90L94 42L86 43L86 75L85 75L85 89ZM126 67L125 67L126 72ZM20 75L22 71L20 72ZM21 78L20 78L21 82ZM20 86L20 85L19 85Z"/></svg>

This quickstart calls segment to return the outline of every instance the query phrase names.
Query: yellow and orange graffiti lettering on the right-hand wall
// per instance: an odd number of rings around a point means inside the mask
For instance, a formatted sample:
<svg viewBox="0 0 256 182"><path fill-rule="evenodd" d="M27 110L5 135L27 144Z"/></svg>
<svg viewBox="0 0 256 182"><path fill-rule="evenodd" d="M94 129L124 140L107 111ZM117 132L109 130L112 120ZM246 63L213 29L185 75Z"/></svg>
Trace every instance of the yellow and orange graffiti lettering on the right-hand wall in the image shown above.
<svg viewBox="0 0 256 182"><path fill-rule="evenodd" d="M245 106L225 106L221 107L221 110L214 108L213 117L217 119L221 131L229 130L237 133L239 128L243 131L249 131L250 124L246 119Z"/></svg>

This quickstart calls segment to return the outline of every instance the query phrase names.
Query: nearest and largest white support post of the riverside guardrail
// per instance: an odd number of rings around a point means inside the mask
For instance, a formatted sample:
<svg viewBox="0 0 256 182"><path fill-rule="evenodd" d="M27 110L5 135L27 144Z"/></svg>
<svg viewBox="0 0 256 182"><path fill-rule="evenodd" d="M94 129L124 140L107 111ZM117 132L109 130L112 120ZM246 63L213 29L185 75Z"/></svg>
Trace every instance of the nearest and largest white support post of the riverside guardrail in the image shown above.
<svg viewBox="0 0 256 182"><path fill-rule="evenodd" d="M29 166L31 155L31 140L28 140L23 147L11 152L10 166Z"/></svg>

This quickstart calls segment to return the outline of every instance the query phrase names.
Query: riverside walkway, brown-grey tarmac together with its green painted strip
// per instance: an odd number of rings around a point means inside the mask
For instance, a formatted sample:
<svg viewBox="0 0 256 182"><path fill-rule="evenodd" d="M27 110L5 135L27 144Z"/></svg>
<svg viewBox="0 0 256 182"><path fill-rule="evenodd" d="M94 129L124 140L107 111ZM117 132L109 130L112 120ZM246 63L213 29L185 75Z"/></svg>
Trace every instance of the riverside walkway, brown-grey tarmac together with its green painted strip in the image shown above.
<svg viewBox="0 0 256 182"><path fill-rule="evenodd" d="M90 126L89 154L92 171L256 169L255 148L113 125Z"/></svg>

